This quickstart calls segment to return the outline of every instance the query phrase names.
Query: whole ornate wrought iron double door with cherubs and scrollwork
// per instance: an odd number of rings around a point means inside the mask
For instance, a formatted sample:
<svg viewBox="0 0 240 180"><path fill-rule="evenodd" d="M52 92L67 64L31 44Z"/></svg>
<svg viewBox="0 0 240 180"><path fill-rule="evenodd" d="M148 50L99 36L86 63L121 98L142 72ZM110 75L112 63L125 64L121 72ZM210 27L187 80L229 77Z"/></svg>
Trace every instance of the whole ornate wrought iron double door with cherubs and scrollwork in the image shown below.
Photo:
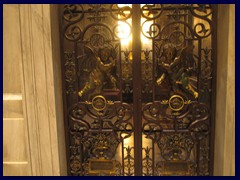
<svg viewBox="0 0 240 180"><path fill-rule="evenodd" d="M59 9L69 175L211 175L215 6Z"/></svg>

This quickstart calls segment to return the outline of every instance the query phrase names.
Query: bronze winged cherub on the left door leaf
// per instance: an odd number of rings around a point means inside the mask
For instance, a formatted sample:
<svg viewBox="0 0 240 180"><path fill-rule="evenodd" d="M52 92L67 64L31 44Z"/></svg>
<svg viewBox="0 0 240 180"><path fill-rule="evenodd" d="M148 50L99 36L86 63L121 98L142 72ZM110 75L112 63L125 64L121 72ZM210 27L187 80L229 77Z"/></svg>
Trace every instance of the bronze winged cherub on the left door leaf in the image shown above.
<svg viewBox="0 0 240 180"><path fill-rule="evenodd" d="M113 59L112 50L108 47L99 49L98 56L89 47L87 51L88 63L91 63L89 79L84 85L83 89L78 92L82 97L84 94L89 93L88 97L93 97L101 94L106 82L111 83L111 89L117 89L116 78L111 74L111 70L116 65ZM89 70L89 69L88 69Z"/></svg>

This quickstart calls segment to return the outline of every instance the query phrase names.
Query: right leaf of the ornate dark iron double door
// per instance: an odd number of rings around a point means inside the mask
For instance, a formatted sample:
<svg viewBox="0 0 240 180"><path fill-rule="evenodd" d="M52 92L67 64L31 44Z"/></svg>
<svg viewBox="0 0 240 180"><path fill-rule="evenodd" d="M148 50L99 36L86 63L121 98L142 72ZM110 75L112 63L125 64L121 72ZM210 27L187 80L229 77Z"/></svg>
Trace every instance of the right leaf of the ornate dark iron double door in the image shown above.
<svg viewBox="0 0 240 180"><path fill-rule="evenodd" d="M213 12L205 4L142 6L142 33L153 43L155 78L142 127L153 143L155 175L209 175ZM170 162L168 171L163 164ZM174 172L178 162L188 162L188 170Z"/></svg>

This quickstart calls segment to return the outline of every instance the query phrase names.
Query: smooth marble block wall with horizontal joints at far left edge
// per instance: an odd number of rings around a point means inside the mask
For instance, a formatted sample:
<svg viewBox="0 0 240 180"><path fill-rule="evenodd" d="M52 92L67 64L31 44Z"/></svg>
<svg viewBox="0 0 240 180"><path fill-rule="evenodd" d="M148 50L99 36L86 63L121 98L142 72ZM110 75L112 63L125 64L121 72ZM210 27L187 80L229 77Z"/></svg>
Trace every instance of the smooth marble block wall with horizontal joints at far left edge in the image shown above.
<svg viewBox="0 0 240 180"><path fill-rule="evenodd" d="M3 6L3 175L30 175L18 5Z"/></svg>

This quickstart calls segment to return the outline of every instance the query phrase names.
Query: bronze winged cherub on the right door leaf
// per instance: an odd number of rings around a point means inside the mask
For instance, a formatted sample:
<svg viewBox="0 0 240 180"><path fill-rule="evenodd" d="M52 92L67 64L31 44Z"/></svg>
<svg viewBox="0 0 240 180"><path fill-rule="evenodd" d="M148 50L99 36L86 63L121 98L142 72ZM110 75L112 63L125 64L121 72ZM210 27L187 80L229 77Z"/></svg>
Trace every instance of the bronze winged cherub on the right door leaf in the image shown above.
<svg viewBox="0 0 240 180"><path fill-rule="evenodd" d="M157 85L162 85L163 81L168 78L173 91L183 89L193 95L195 99L198 98L198 92L193 88L194 85L192 83L197 80L191 77L194 63L192 57L193 48L193 45L184 47L180 55L177 56L177 49L173 44L168 43L164 45L159 61L163 74L157 79Z"/></svg>

